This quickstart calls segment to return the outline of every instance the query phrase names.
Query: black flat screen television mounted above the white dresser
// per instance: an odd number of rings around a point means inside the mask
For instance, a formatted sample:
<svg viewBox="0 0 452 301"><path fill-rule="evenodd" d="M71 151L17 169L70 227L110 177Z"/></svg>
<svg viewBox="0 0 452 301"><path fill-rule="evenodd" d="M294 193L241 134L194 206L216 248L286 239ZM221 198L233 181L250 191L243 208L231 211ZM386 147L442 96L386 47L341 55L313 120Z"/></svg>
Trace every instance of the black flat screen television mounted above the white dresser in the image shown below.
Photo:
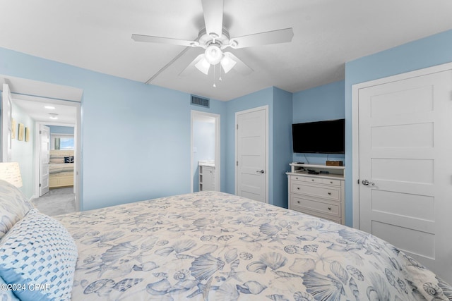
<svg viewBox="0 0 452 301"><path fill-rule="evenodd" d="M345 119L292 124L295 153L345 154Z"/></svg>

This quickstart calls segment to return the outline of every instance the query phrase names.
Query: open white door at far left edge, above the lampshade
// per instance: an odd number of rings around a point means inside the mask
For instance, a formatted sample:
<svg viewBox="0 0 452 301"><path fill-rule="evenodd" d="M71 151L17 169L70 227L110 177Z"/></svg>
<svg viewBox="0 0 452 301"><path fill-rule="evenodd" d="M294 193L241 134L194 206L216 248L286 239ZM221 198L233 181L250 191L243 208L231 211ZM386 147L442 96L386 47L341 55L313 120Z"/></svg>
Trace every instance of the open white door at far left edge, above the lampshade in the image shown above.
<svg viewBox="0 0 452 301"><path fill-rule="evenodd" d="M1 161L11 161L11 135L12 130L12 112L13 105L11 104L11 91L7 84L3 84L3 92L1 92Z"/></svg>

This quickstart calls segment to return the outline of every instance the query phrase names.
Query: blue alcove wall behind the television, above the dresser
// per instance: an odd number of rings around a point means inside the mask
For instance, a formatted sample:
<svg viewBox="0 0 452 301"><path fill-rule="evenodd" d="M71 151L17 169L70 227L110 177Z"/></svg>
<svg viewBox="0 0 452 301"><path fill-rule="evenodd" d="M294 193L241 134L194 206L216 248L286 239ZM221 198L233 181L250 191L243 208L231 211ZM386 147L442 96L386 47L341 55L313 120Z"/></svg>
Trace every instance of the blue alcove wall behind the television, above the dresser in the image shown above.
<svg viewBox="0 0 452 301"><path fill-rule="evenodd" d="M293 123L345 118L344 81L314 87L293 94ZM292 137L291 137L292 142ZM292 149L292 144L291 144ZM344 161L342 154L293 154L292 161L326 164L326 160Z"/></svg>

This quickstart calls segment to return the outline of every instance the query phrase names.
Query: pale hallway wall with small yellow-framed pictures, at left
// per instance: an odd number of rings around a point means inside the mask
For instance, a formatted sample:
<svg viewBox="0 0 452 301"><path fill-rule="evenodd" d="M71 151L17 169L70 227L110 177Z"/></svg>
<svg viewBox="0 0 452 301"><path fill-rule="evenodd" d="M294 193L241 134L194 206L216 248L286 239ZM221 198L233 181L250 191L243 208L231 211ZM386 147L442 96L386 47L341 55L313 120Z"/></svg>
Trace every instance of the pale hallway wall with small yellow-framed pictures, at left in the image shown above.
<svg viewBox="0 0 452 301"><path fill-rule="evenodd" d="M16 121L16 138L11 141L11 161L18 162L20 166L20 175L22 176L22 190L23 194L31 198L35 190L35 170L33 168L35 162L35 121L23 111L20 106L13 104L12 117ZM19 123L24 125L23 140L18 140ZM30 130L30 140L25 141L25 128Z"/></svg>

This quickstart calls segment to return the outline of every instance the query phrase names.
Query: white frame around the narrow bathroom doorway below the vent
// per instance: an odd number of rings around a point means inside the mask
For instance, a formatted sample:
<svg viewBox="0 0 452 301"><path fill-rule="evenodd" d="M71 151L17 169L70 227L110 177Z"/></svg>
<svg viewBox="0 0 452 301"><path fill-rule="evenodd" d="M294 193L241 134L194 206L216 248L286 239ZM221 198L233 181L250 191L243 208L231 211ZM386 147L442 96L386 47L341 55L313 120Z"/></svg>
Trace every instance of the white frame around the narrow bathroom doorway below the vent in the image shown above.
<svg viewBox="0 0 452 301"><path fill-rule="evenodd" d="M190 172L190 178L191 178L191 192L193 192L193 175L196 170L197 165L194 164L194 155L193 155L193 148L194 148L194 137L193 137L193 123L196 118L207 116L210 118L215 118L215 190L221 191L221 143L220 143L220 115L215 113L208 113L203 111L195 111L191 110L191 148L190 148L190 161L191 161L191 172Z"/></svg>

